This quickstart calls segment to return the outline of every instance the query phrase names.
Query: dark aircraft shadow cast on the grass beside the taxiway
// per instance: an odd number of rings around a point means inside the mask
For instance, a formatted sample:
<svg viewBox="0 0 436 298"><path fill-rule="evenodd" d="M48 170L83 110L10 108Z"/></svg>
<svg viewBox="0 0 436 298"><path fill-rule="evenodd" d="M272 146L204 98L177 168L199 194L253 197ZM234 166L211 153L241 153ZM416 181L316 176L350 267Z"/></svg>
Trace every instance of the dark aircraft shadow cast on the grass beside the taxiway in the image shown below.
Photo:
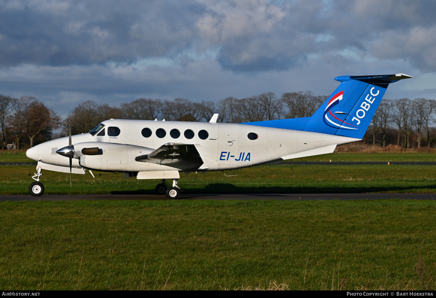
<svg viewBox="0 0 436 298"><path fill-rule="evenodd" d="M235 186L230 183L212 183L204 188L183 188L181 185L181 194L225 194L225 193L405 193L414 192L417 189L435 189L435 185L429 186L379 186L379 187L241 187ZM140 189L140 190L127 190L127 191L112 191L112 194L154 194L154 190Z"/></svg>

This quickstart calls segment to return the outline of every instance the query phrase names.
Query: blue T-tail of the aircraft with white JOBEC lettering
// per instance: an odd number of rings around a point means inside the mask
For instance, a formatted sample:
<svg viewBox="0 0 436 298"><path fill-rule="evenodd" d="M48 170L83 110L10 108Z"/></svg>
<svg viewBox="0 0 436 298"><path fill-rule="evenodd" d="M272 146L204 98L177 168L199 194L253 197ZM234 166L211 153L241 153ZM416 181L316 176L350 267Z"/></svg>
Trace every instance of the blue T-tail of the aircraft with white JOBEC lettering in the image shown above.
<svg viewBox="0 0 436 298"><path fill-rule="evenodd" d="M311 116L244 124L320 132L362 139L390 83L406 74L354 75L334 78L341 85Z"/></svg>

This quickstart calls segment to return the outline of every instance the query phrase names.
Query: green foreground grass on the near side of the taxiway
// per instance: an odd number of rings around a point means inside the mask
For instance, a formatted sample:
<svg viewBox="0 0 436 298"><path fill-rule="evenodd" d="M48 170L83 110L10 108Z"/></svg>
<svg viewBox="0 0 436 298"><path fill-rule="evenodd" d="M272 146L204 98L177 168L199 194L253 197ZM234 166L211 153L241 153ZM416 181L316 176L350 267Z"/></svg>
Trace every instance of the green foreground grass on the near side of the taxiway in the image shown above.
<svg viewBox="0 0 436 298"><path fill-rule="evenodd" d="M436 261L433 201L0 203L0 287L411 288ZM305 278L304 278L305 277Z"/></svg>

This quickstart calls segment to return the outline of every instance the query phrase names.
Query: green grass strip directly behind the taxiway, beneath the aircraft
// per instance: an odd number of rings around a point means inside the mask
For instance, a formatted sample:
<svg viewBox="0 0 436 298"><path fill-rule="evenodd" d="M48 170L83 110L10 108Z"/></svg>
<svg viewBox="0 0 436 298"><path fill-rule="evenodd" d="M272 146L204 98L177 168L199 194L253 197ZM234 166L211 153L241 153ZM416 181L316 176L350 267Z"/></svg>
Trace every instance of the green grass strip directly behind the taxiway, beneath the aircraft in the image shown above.
<svg viewBox="0 0 436 298"><path fill-rule="evenodd" d="M0 166L0 193L27 194L35 166ZM435 193L434 166L270 165L221 172L181 173L182 193ZM31 174L31 175L29 175ZM44 171L45 194L154 193L160 180L125 179L122 174L86 175ZM101 176L99 176L101 174ZM67 178L67 179L66 179Z"/></svg>

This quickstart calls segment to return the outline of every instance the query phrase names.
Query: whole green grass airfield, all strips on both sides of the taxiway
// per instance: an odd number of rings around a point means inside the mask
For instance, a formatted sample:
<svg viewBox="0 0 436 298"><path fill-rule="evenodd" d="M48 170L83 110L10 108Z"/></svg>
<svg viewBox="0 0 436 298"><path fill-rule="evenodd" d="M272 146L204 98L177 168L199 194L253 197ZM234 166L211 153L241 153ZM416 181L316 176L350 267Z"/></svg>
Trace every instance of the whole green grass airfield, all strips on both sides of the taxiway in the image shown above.
<svg viewBox="0 0 436 298"><path fill-rule="evenodd" d="M338 158L317 158L434 161L431 153L330 156ZM182 174L179 185L184 193L434 193L433 168L256 166L226 171L233 177ZM0 166L0 193L27 194L34 171ZM69 174L67 182L43 173L46 194L153 193L158 183L95 172L73 175L70 187ZM411 200L0 202L0 288L421 289L421 250L435 289L435 211L433 201Z"/></svg>

